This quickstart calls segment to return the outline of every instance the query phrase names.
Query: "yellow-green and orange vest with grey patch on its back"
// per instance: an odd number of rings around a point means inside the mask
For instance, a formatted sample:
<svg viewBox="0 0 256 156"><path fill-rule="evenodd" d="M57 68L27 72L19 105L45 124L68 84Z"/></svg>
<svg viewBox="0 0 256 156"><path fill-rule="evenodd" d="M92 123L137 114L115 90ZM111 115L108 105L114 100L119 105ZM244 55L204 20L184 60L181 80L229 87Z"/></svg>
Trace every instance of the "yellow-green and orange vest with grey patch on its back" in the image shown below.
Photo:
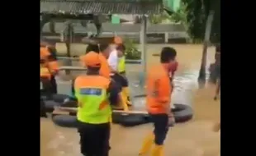
<svg viewBox="0 0 256 156"><path fill-rule="evenodd" d="M74 82L79 105L78 121L91 124L110 122L111 107L107 95L109 83L110 80L103 76L78 76Z"/></svg>

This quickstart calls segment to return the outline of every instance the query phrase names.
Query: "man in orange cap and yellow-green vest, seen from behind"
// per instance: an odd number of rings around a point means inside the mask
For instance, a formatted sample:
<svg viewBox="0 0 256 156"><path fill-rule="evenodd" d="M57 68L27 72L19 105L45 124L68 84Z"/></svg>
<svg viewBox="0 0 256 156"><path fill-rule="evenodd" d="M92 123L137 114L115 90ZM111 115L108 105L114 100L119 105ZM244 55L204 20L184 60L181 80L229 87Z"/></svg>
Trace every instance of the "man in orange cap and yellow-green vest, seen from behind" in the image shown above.
<svg viewBox="0 0 256 156"><path fill-rule="evenodd" d="M78 132L84 156L108 156L111 105L119 102L119 89L115 83L100 75L101 55L90 52L83 57L87 75L78 76L73 84L78 99Z"/></svg>

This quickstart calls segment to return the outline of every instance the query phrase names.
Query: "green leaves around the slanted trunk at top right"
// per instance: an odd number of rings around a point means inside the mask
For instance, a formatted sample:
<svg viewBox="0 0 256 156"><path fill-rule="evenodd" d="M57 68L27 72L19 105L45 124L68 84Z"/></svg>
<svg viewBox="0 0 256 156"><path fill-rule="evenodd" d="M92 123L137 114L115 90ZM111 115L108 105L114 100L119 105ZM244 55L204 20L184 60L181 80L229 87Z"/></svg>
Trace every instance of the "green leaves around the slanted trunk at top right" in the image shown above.
<svg viewBox="0 0 256 156"><path fill-rule="evenodd" d="M192 43L201 43L205 36L206 20L209 12L215 11L211 26L211 43L220 42L220 0L182 0L178 11L164 11L149 16L149 21L159 24L168 19L183 24L192 39Z"/></svg>

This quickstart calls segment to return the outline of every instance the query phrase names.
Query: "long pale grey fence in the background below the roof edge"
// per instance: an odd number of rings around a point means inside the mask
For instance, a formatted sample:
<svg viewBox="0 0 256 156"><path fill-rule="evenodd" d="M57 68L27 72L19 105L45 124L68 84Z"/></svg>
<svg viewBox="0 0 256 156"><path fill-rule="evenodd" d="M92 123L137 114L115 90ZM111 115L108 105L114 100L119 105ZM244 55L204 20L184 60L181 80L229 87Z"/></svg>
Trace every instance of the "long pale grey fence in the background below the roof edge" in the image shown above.
<svg viewBox="0 0 256 156"><path fill-rule="evenodd" d="M55 33L50 32L50 24L46 23L43 28L43 34L51 36L52 39L59 39L59 35L64 30L64 23L55 23ZM140 24L102 24L102 37L110 37L114 34L121 36L124 39L133 39L135 42L141 41L141 25ZM80 23L73 23L73 30L75 38L82 38L86 34L96 33L96 28L93 24L88 24L83 27ZM181 24L161 24L147 26L147 42L148 43L168 43L169 39L187 39L188 35ZM73 39L78 40L79 39ZM75 42L75 41L74 41Z"/></svg>

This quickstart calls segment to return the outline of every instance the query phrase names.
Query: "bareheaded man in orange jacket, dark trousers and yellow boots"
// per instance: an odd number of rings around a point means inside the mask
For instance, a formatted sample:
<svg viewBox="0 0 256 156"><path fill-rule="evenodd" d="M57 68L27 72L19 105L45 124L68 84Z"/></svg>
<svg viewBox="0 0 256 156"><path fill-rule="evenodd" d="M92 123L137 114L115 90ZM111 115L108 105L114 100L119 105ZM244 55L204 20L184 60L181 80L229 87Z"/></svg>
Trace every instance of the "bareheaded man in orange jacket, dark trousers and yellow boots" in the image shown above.
<svg viewBox="0 0 256 156"><path fill-rule="evenodd" d="M173 120L171 113L172 85L169 72L175 62L176 51L173 48L162 49L158 66L151 67L147 74L146 107L154 123L154 132L146 136L139 155L145 155L154 144L150 155L164 156L164 140L168 133L168 123Z"/></svg>

